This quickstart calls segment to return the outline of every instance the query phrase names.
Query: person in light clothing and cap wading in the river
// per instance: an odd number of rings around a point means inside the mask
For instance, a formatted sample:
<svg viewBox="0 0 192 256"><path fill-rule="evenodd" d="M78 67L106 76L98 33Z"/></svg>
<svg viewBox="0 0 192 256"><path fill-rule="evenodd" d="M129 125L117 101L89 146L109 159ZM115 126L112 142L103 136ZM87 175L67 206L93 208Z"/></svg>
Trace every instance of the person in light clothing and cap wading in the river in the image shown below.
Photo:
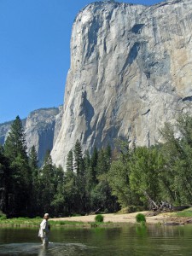
<svg viewBox="0 0 192 256"><path fill-rule="evenodd" d="M48 219L49 219L49 213L45 213L44 219L42 220L39 231L38 231L38 236L41 237L41 240L44 246L48 246L49 244L48 236L49 236L50 227L49 227Z"/></svg>

